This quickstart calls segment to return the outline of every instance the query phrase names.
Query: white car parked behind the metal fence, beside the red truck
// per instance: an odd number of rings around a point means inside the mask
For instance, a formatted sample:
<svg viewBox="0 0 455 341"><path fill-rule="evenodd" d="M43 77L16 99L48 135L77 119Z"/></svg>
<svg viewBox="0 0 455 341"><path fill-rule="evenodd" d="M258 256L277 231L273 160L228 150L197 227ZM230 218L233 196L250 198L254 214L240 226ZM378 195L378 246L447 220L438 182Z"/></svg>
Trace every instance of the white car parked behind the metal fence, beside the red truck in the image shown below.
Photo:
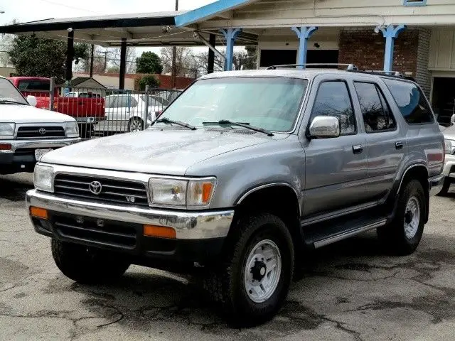
<svg viewBox="0 0 455 341"><path fill-rule="evenodd" d="M149 126L167 104L149 95L146 111L146 94L112 94L105 97L105 120L95 126L96 132L141 131Z"/></svg>

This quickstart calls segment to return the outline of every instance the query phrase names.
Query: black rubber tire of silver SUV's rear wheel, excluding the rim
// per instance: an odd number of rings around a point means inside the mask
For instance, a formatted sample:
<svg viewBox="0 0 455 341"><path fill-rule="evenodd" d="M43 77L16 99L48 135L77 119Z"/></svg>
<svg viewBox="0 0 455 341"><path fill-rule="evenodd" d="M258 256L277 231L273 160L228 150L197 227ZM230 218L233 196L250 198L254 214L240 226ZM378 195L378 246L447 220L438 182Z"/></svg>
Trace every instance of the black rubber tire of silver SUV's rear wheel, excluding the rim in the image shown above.
<svg viewBox="0 0 455 341"><path fill-rule="evenodd" d="M412 197L416 198L419 203L419 222L417 232L412 238L409 238L405 233L405 219L407 204ZM427 199L422 184L418 180L410 180L400 191L397 210L392 222L378 229L378 237L383 247L392 254L402 256L412 254L422 239L425 212L427 212Z"/></svg>

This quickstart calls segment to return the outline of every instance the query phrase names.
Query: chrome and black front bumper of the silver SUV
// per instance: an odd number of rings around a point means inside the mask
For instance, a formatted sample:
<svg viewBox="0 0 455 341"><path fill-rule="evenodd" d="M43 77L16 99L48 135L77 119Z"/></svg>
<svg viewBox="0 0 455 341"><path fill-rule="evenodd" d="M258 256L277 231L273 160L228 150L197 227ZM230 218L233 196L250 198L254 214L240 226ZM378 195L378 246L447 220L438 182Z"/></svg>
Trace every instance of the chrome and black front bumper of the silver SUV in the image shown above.
<svg viewBox="0 0 455 341"><path fill-rule="evenodd" d="M178 211L107 205L29 190L26 205L48 210L48 220L31 217L36 232L64 242L139 257L204 262L220 253L233 210ZM176 239L144 236L144 224L172 227Z"/></svg>

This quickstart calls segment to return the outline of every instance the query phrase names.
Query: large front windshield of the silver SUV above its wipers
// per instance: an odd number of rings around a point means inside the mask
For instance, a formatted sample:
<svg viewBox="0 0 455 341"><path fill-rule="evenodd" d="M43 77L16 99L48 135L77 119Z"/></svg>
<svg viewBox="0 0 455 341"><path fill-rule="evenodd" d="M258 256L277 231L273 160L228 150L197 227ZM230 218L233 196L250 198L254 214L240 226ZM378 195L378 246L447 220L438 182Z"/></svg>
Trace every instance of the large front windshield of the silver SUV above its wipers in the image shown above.
<svg viewBox="0 0 455 341"><path fill-rule="evenodd" d="M192 126L229 120L269 131L291 131L307 80L239 77L199 80L161 115Z"/></svg>

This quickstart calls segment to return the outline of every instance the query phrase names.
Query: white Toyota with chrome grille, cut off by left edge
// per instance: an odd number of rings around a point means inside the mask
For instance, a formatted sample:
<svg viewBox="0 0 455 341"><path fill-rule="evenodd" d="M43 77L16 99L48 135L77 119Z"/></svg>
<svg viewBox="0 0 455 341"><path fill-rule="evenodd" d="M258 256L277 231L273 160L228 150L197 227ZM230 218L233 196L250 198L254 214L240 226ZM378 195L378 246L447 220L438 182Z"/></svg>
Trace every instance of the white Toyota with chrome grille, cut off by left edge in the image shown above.
<svg viewBox="0 0 455 341"><path fill-rule="evenodd" d="M35 106L0 77L0 174L33 172L48 151L80 141L75 119Z"/></svg>

